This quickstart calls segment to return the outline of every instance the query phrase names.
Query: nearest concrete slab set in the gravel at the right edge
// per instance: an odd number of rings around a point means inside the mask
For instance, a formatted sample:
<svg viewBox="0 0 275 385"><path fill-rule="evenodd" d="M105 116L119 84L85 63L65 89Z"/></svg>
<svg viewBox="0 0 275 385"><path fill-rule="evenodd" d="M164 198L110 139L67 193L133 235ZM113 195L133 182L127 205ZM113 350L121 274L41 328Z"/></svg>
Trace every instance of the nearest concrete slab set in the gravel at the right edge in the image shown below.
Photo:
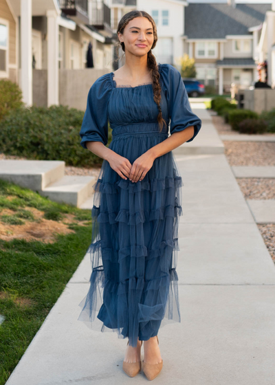
<svg viewBox="0 0 275 385"><path fill-rule="evenodd" d="M275 223L275 199L248 199L247 203L256 223Z"/></svg>

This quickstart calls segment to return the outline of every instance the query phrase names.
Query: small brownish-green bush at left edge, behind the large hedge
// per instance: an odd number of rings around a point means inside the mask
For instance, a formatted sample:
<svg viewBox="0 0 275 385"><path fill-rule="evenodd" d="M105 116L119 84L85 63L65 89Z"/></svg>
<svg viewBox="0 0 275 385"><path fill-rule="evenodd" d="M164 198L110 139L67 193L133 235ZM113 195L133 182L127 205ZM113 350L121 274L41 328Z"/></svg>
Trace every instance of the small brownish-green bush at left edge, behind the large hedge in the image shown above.
<svg viewBox="0 0 275 385"><path fill-rule="evenodd" d="M23 106L22 91L8 79L0 80L0 120L14 109Z"/></svg>

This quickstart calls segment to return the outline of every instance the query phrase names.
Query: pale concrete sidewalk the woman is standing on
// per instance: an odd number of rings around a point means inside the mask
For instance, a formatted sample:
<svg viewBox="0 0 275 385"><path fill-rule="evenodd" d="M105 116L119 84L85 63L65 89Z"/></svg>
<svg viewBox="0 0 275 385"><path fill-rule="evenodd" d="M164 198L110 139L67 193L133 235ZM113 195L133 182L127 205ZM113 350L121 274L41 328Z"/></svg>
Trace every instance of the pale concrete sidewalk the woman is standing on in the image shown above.
<svg viewBox="0 0 275 385"><path fill-rule="evenodd" d="M203 118L201 141L214 127L208 111L194 112ZM274 263L225 155L203 146L200 154L175 157L184 181L177 265L181 323L159 329L164 366L155 383L273 384ZM143 373L130 379L122 371L126 340L77 320L90 274L86 255L8 385L147 382Z"/></svg>

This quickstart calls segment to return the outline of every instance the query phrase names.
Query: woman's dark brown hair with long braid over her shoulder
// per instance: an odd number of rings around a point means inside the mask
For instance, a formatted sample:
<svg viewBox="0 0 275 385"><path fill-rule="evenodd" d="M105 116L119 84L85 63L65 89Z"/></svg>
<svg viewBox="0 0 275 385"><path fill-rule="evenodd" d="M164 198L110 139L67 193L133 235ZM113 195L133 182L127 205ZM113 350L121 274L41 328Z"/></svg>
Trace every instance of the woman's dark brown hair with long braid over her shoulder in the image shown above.
<svg viewBox="0 0 275 385"><path fill-rule="evenodd" d="M148 21L151 21L153 26L153 35L154 35L154 41L151 47L151 50L152 50L157 43L157 26L155 25L155 21L153 17L151 17L151 15L145 11L133 10L131 12L124 14L124 16L122 16L122 18L120 19L120 22L118 23L117 37L118 37L118 32L123 34L124 28L126 27L126 25L129 23L129 21L135 19L135 17L146 17ZM124 42L123 41L120 42L120 40L118 39L118 44L116 46L117 56L118 56L118 49L120 45L122 47L122 50L125 52ZM159 123L160 131L162 131L163 125L164 124L166 125L166 121L164 120L164 118L162 118L162 109L160 107L160 101L162 100L162 96L161 96L162 88L159 83L159 70L157 67L157 61L155 60L155 56L153 55L151 50L147 54L147 65L148 65L148 69L151 72L151 77L153 80L154 101L156 102L157 108L159 109L159 113L157 115L157 122Z"/></svg>

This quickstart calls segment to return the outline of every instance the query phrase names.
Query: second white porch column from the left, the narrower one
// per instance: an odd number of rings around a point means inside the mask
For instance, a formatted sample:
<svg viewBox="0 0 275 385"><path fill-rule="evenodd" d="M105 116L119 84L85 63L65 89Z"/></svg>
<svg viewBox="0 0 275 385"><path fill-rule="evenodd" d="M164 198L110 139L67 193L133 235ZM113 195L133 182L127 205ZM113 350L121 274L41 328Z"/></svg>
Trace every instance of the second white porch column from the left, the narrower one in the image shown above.
<svg viewBox="0 0 275 385"><path fill-rule="evenodd" d="M47 10L47 107L58 98L58 23L55 10Z"/></svg>

